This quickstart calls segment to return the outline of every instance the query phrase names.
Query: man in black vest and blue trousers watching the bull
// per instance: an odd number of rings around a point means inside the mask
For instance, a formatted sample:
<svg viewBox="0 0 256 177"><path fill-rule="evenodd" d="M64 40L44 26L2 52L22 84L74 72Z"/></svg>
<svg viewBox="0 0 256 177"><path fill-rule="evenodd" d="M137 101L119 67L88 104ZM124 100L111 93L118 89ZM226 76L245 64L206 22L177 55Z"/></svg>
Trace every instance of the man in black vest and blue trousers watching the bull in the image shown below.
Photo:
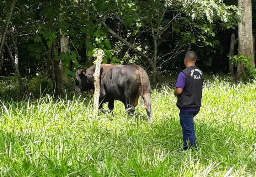
<svg viewBox="0 0 256 177"><path fill-rule="evenodd" d="M180 124L183 132L183 150L180 152L188 149L197 150L194 116L199 113L201 107L204 74L195 63L196 53L188 51L184 59L186 69L178 74L174 92L178 98L176 105L180 109Z"/></svg>

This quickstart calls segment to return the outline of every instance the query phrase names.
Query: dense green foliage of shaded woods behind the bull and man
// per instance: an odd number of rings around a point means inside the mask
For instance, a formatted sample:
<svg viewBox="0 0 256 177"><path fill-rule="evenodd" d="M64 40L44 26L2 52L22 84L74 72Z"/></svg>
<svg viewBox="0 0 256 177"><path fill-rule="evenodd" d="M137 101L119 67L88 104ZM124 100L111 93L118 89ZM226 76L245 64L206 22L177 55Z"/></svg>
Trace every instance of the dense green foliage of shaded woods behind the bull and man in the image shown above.
<svg viewBox="0 0 256 177"><path fill-rule="evenodd" d="M230 35L240 15L234 2L219 0L12 0L0 4L1 35L12 2L5 42L18 58L20 78L53 84L66 83L56 80L54 64L60 61L72 77L77 67L93 64L97 48L105 52L103 63L140 64L153 82L183 68L187 50L196 51L205 72L226 72ZM68 41L67 50L61 40ZM1 55L1 75L17 73L5 45Z"/></svg>

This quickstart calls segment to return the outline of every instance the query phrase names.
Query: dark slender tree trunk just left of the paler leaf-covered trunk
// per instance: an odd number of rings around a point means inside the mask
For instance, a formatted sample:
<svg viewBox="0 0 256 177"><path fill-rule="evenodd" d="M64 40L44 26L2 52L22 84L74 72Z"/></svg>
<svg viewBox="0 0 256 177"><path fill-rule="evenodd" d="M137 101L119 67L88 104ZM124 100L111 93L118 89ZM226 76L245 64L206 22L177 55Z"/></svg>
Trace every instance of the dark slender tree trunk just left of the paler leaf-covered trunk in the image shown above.
<svg viewBox="0 0 256 177"><path fill-rule="evenodd" d="M55 89L55 93L57 96L61 96L62 94L62 78L59 69L59 61L56 60L56 56L58 56L58 48L56 40L53 41L52 44L52 69L54 73L55 85L53 88ZM54 94L55 95L55 94Z"/></svg>

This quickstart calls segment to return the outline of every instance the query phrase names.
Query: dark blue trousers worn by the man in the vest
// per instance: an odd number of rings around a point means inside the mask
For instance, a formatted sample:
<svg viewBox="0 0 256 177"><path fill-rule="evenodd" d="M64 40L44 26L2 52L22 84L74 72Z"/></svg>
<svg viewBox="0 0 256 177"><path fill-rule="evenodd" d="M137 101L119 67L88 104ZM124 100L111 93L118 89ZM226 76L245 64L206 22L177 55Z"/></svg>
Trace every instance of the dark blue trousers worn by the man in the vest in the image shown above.
<svg viewBox="0 0 256 177"><path fill-rule="evenodd" d="M196 116L199 111L186 112L180 111L180 124L183 132L183 150L189 148L195 148L197 150L196 134L194 131L194 116Z"/></svg>

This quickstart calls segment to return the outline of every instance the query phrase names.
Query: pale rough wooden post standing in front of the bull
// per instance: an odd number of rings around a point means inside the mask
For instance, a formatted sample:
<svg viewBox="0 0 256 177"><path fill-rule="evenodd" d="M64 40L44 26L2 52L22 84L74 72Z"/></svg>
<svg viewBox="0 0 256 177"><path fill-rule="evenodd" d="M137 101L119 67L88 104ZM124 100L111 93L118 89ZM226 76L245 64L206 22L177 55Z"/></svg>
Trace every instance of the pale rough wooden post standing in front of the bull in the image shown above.
<svg viewBox="0 0 256 177"><path fill-rule="evenodd" d="M94 110L93 110L93 118L96 118L98 114L98 105L100 99L100 66L103 57L103 51L99 49L97 51L96 65L94 76Z"/></svg>

